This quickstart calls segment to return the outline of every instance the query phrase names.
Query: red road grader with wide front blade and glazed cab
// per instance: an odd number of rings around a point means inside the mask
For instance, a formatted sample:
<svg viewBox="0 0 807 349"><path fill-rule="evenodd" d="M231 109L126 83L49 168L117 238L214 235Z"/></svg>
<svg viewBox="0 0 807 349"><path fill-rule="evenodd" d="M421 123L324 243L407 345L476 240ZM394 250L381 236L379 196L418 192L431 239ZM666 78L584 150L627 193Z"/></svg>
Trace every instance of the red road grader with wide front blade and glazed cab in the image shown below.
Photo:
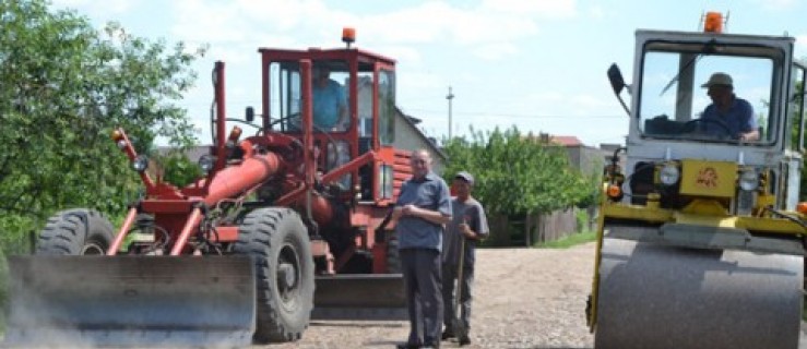
<svg viewBox="0 0 807 349"><path fill-rule="evenodd" d="M115 130L145 194L117 234L93 209L63 210L35 255L10 258L5 345L241 346L299 339L312 314L401 316L397 249L384 229L410 176L410 153L392 146L394 61L351 48L344 34L340 49L259 49L262 109L245 120L225 116L217 62L214 145L188 186L150 174ZM318 68L347 91L342 127L312 122ZM227 132L225 121L244 129Z"/></svg>

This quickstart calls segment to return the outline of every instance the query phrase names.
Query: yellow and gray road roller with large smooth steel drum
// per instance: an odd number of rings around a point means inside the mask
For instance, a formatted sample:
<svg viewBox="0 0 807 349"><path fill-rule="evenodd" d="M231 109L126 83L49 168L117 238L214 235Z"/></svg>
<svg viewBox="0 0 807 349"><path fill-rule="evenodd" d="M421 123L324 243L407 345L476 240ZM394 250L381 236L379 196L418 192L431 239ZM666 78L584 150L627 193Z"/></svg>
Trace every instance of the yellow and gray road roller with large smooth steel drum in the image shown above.
<svg viewBox="0 0 807 349"><path fill-rule="evenodd" d="M798 347L805 65L792 37L721 33L716 13L704 27L637 31L632 84L608 70L630 129L605 171L596 348ZM717 72L752 106L757 137L702 115Z"/></svg>

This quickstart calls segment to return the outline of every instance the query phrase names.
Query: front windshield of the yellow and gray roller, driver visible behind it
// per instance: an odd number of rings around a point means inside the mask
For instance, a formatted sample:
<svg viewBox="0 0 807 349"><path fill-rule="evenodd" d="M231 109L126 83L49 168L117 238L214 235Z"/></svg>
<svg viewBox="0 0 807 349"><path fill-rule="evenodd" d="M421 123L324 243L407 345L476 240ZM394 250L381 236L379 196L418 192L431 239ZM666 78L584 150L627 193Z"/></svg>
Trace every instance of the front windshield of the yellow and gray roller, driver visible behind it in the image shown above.
<svg viewBox="0 0 807 349"><path fill-rule="evenodd" d="M745 55L745 56L740 56ZM774 142L770 100L778 52L717 44L649 43L639 129L645 137Z"/></svg>

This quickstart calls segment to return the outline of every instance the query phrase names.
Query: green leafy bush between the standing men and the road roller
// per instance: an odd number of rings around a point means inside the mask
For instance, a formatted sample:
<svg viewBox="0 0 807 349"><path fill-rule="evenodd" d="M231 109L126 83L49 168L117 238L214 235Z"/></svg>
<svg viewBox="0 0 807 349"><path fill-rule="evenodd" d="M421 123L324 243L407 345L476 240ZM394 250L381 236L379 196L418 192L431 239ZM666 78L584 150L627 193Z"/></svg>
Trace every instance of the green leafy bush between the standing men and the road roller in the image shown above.
<svg viewBox="0 0 807 349"><path fill-rule="evenodd" d="M569 165L565 148L544 144L515 127L446 143L447 179L461 170L476 179L474 195L497 214L548 213L592 198L594 181Z"/></svg>

